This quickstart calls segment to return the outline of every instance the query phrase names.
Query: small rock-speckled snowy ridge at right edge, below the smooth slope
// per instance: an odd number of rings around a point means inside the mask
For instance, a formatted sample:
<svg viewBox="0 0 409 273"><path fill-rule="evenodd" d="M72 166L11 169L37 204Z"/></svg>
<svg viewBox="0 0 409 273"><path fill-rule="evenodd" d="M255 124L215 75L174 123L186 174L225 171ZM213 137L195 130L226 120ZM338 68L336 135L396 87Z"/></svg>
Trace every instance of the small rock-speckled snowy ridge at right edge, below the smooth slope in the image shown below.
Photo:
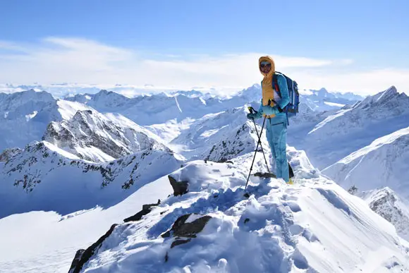
<svg viewBox="0 0 409 273"><path fill-rule="evenodd" d="M370 208L396 227L399 236L409 240L409 203L388 187L358 194Z"/></svg>

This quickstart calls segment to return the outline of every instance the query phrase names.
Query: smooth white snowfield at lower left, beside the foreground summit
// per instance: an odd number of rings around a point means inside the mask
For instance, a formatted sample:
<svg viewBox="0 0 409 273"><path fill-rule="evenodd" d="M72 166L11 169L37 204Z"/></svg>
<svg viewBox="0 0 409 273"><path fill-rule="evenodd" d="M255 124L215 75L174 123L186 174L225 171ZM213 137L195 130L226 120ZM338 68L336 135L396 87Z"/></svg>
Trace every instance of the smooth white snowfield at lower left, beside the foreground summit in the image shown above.
<svg viewBox="0 0 409 273"><path fill-rule="evenodd" d="M168 179L142 186L112 207L92 207L72 214L27 212L0 219L0 271L66 273L78 248L97 241L112 223L142 210L171 192Z"/></svg>

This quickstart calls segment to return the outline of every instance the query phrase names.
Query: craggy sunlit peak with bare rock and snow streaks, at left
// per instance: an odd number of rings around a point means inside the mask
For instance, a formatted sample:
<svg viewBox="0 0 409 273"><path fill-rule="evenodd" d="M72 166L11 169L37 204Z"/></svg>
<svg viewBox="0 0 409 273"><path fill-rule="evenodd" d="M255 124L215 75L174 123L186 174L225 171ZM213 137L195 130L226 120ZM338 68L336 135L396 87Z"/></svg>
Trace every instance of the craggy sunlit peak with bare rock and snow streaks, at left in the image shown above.
<svg viewBox="0 0 409 273"><path fill-rule="evenodd" d="M156 135L133 121L95 110L77 111L72 119L49 123L42 139L92 162L152 148L170 152Z"/></svg>

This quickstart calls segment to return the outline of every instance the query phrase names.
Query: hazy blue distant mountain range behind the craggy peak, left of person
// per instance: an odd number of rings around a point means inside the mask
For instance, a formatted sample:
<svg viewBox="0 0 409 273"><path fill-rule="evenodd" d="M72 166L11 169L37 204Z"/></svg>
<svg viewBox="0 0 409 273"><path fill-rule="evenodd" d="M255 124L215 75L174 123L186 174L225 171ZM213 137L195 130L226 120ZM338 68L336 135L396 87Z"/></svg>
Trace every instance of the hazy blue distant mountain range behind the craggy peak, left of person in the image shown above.
<svg viewBox="0 0 409 273"><path fill-rule="evenodd" d="M62 85L64 87L66 85ZM23 86L27 87L28 86ZM23 88L22 87L22 88ZM11 94L0 93L0 150L24 147L28 142L41 140L51 121L71 119L75 113L97 110L102 114L116 113L126 116L140 126L165 124L169 121L200 119L206 114L243 107L250 102L260 102L260 85L253 85L225 98L200 91L175 91L169 95L152 94L128 98L116 92L99 90L93 94L74 95L54 99L45 92L29 90ZM319 100L308 101L313 111L338 109ZM355 101L351 101L351 104ZM322 107L319 106L322 104ZM166 133L163 135L166 138Z"/></svg>

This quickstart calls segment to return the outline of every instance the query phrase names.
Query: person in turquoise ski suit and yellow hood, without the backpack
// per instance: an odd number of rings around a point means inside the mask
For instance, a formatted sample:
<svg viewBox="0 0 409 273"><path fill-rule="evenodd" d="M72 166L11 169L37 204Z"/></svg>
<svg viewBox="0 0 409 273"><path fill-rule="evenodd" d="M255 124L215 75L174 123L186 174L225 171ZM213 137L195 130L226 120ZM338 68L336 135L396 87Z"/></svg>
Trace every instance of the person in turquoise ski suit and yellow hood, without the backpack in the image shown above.
<svg viewBox="0 0 409 273"><path fill-rule="evenodd" d="M290 179L286 155L288 117L283 111L290 102L287 80L280 73L276 73L274 61L270 56L260 58L259 68L264 76L262 80L262 104L259 111L250 113L247 117L248 119L260 119L264 116L267 119L267 140L272 157L276 162L276 176L283 178L286 183L293 183ZM273 80L273 77L276 78Z"/></svg>

